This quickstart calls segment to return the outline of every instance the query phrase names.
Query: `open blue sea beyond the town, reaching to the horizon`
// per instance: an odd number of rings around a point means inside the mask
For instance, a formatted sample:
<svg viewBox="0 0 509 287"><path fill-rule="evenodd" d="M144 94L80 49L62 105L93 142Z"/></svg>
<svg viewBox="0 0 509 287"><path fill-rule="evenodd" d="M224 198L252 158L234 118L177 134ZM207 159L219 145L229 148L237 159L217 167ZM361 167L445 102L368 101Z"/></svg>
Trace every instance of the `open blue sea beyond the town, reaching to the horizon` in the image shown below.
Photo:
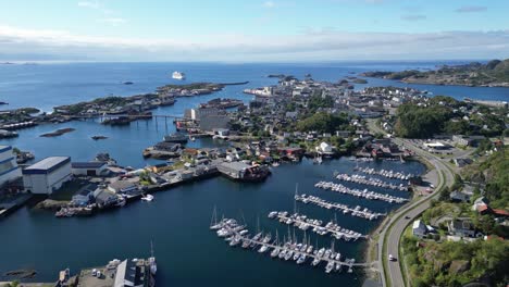
<svg viewBox="0 0 509 287"><path fill-rule="evenodd" d="M461 62L345 62L316 64L223 64L223 63L59 63L37 65L0 65L0 101L9 102L3 109L35 107L51 111L59 104L86 101L115 95L129 96L153 91L158 86L182 83L171 78L173 71L187 74L186 83L193 82L245 82L219 93L232 97L247 87L275 84L268 74L288 74L303 77L310 73L319 80L336 82L365 71L401 71L407 68L434 68L436 65ZM134 85L123 85L131 80ZM447 95L458 99L507 100L509 88L408 85L394 80L368 79L364 86L401 86L430 90L434 95Z"/></svg>

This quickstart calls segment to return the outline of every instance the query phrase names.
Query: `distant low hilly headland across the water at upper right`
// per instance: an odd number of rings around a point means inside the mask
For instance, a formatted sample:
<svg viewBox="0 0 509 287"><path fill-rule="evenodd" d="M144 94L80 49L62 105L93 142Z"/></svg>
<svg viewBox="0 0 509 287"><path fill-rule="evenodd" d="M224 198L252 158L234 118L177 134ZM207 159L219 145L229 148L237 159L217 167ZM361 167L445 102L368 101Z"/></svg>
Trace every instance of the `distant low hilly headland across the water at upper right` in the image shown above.
<svg viewBox="0 0 509 287"><path fill-rule="evenodd" d="M509 87L509 59L486 64L443 65L434 71L365 72L361 76L401 80L413 84Z"/></svg>

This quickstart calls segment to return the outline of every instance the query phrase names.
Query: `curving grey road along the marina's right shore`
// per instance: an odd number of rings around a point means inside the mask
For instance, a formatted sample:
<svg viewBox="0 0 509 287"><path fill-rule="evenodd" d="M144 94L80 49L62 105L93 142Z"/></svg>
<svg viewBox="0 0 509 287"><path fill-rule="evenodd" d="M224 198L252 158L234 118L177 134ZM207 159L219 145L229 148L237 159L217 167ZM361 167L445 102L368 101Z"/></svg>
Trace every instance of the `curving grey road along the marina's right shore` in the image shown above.
<svg viewBox="0 0 509 287"><path fill-rule="evenodd" d="M378 132L385 134L380 127L376 126L375 122L369 122L370 129L373 132ZM437 172L437 178L435 184L435 189L432 194L426 195L420 198L418 201L411 202L400 210L398 210L389 220L389 222L383 227L380 233L378 239L378 261L381 264L381 272L383 286L387 286L385 275L388 276L389 286L402 287L405 286L402 271L400 269L399 260L399 239L402 236L402 233L408 224L410 224L415 217L418 217L422 212L424 212L430 207L430 201L432 198L438 196L438 190L444 186L452 185L455 180L455 174L447 165L446 162L440 160L437 155L429 153L421 148L417 147L413 142L401 139L393 138L393 141L397 145L405 146L407 149L412 150L417 155L423 158L430 164L432 164ZM409 219L405 219L408 216ZM384 250L384 244L387 246L387 250ZM385 251L385 252L384 252ZM389 261L388 254L393 254L397 261Z"/></svg>

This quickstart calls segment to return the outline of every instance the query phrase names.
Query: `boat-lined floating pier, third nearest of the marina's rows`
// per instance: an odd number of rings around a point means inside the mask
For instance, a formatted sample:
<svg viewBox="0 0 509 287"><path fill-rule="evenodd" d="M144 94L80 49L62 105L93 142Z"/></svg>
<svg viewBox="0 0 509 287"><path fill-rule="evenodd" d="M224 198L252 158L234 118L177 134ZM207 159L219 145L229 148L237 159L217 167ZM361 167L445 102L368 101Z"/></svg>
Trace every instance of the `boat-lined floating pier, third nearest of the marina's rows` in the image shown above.
<svg viewBox="0 0 509 287"><path fill-rule="evenodd" d="M367 208L362 209L360 205L357 205L355 209L352 209L346 204L326 201L322 198L314 197L314 196L295 195L295 200L302 202L305 204L312 203L312 204L315 204L318 207L328 209L328 210L330 209L340 210L343 211L343 214L350 214L351 216L357 216L357 217L365 219L370 221L377 220L380 216L387 215L386 213L377 213L377 212L370 211Z"/></svg>

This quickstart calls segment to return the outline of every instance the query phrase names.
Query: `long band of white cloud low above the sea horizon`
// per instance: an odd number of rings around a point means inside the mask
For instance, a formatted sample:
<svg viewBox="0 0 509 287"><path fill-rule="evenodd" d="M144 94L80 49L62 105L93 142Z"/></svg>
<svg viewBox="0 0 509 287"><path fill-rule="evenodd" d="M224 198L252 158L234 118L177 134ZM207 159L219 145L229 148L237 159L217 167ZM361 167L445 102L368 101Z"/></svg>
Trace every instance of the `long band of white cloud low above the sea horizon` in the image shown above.
<svg viewBox="0 0 509 287"><path fill-rule="evenodd" d="M41 55L97 61L438 60L508 58L508 51L509 30L410 34L309 29L299 35L150 39L0 26L0 60L5 61L14 55L34 61Z"/></svg>

